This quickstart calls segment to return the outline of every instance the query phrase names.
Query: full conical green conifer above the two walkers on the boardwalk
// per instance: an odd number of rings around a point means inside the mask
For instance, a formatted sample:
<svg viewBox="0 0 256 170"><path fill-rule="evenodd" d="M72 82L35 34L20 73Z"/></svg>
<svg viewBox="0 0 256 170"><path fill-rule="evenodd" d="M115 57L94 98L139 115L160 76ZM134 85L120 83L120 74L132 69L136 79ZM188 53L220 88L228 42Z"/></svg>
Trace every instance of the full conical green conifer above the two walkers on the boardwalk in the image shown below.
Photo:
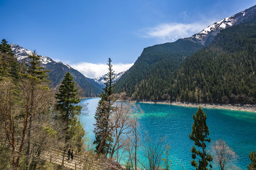
<svg viewBox="0 0 256 170"><path fill-rule="evenodd" d="M58 111L57 118L62 119L65 123L65 149L62 158L62 166L64 165L64 156L69 145L76 143L78 150L81 150L82 137L84 130L78 120L81 114L82 106L77 105L80 99L77 96L77 89L75 88L75 82L70 72L67 72L63 81L59 87L59 93L56 93L57 99L56 109Z"/></svg>

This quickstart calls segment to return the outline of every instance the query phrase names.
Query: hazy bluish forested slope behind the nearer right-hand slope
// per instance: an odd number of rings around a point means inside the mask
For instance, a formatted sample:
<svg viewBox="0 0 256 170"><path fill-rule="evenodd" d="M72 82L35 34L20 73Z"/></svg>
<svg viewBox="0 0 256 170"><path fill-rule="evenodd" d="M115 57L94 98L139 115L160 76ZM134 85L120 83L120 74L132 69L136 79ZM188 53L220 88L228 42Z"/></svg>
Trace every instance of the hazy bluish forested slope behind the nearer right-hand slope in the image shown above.
<svg viewBox="0 0 256 170"><path fill-rule="evenodd" d="M184 39L145 48L134 65L117 81L116 91L124 91L139 99L150 98L155 92L156 96L162 95L163 81L167 83L169 75L179 68L187 57L201 48L202 45ZM150 89L147 88L150 90L148 95L147 90L138 91L143 85L150 86Z"/></svg>

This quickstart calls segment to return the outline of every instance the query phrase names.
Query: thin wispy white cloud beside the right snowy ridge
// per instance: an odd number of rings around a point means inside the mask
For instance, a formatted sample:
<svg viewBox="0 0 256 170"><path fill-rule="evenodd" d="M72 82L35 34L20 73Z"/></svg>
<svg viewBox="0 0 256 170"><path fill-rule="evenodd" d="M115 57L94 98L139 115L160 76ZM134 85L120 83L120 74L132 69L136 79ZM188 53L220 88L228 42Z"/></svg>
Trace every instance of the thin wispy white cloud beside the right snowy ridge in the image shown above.
<svg viewBox="0 0 256 170"><path fill-rule="evenodd" d="M173 42L179 38L192 36L211 25L212 20L190 24L165 23L151 28L143 29L140 35L143 38L155 38L158 42Z"/></svg>

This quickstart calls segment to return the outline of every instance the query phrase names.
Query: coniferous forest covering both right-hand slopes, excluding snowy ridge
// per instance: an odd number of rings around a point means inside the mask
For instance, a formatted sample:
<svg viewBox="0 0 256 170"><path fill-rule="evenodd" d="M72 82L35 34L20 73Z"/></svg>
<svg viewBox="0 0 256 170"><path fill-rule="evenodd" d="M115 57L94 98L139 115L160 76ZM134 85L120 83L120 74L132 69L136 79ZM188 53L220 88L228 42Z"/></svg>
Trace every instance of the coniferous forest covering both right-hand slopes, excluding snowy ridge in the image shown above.
<svg viewBox="0 0 256 170"><path fill-rule="evenodd" d="M180 52L182 49L174 48L171 51L176 55L169 52L169 56L165 56L163 51L167 45L158 45L163 48L160 54L150 53L149 59L162 59L152 67L145 62L153 63L154 60L147 61L144 56L148 49L153 51L157 46L144 49L133 68L117 82L117 91L125 91L137 100L256 102L255 19L222 30L208 47L193 48L199 51L191 56L189 48L184 53ZM142 59L150 71L138 69Z"/></svg>

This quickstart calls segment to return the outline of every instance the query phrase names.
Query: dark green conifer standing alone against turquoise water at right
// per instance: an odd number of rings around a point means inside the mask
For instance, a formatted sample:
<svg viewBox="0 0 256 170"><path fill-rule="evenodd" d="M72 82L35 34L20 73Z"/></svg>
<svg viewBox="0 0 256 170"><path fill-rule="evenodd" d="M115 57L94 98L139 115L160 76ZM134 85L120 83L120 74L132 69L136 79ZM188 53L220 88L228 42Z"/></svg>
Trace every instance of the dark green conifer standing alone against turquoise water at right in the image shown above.
<svg viewBox="0 0 256 170"><path fill-rule="evenodd" d="M196 170L208 170L207 166L210 161L212 161L212 157L209 153L206 153L206 144L205 142L210 142L209 129L206 125L206 113L201 109L198 108L196 114L193 114L194 123L192 126L192 133L189 135L190 139L194 141L194 144L198 147L202 148L202 152L200 150L196 150L195 146L192 147L192 161L191 165L196 168ZM199 165L195 161L196 156L200 156L199 158ZM211 168L211 164L210 164Z"/></svg>

